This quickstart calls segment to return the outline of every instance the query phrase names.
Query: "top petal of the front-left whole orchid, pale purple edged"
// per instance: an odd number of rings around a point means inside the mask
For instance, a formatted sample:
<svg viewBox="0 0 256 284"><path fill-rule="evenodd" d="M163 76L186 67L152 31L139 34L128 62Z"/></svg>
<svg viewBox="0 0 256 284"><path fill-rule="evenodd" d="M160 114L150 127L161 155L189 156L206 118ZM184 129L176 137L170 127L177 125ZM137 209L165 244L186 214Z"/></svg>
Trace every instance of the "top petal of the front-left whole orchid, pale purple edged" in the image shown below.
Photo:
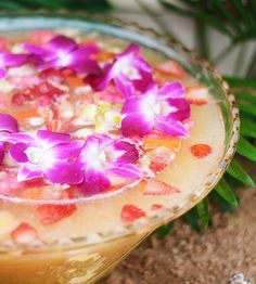
<svg viewBox="0 0 256 284"><path fill-rule="evenodd" d="M37 138L41 143L48 145L49 147L59 143L67 143L71 140L69 134L56 133L49 130L38 130Z"/></svg>

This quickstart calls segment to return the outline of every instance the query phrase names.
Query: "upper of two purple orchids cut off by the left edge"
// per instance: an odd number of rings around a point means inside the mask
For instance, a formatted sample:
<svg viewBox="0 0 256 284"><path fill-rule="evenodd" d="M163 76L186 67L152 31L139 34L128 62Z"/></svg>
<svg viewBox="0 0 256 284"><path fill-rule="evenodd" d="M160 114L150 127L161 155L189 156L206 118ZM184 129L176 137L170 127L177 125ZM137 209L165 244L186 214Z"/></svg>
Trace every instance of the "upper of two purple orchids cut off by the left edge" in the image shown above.
<svg viewBox="0 0 256 284"><path fill-rule="evenodd" d="M25 54L0 52L0 79L5 78L9 67L21 66L27 60Z"/></svg>

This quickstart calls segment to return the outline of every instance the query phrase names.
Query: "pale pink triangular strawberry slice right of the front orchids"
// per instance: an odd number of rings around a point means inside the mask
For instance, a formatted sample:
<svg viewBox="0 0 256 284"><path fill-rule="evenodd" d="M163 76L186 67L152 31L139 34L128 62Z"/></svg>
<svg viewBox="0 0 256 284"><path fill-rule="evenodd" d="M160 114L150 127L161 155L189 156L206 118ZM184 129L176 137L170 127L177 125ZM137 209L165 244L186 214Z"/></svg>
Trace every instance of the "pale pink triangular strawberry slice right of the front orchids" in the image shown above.
<svg viewBox="0 0 256 284"><path fill-rule="evenodd" d="M180 193L180 190L154 179L146 181L142 191L143 195L170 195L175 193Z"/></svg>

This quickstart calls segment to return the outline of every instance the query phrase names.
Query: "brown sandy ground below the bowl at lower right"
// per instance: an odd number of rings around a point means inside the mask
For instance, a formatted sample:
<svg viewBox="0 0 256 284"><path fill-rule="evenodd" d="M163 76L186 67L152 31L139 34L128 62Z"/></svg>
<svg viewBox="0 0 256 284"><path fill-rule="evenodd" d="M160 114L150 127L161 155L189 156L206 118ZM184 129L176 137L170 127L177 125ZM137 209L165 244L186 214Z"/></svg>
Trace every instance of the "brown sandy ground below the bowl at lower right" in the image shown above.
<svg viewBox="0 0 256 284"><path fill-rule="evenodd" d="M101 283L221 284L234 272L256 283L256 189L240 197L241 208L216 211L203 234L179 220L164 240L152 235Z"/></svg>

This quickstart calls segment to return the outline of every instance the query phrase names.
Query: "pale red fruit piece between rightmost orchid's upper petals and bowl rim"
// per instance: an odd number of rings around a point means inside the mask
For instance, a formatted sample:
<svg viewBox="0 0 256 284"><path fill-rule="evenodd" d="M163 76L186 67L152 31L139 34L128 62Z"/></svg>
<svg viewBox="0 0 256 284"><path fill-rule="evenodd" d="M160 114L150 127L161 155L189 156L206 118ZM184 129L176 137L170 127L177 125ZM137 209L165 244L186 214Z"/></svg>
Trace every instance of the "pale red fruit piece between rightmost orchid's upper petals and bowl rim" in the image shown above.
<svg viewBox="0 0 256 284"><path fill-rule="evenodd" d="M185 90L185 99L195 105L204 105L208 103L208 89L203 86L188 87Z"/></svg>

